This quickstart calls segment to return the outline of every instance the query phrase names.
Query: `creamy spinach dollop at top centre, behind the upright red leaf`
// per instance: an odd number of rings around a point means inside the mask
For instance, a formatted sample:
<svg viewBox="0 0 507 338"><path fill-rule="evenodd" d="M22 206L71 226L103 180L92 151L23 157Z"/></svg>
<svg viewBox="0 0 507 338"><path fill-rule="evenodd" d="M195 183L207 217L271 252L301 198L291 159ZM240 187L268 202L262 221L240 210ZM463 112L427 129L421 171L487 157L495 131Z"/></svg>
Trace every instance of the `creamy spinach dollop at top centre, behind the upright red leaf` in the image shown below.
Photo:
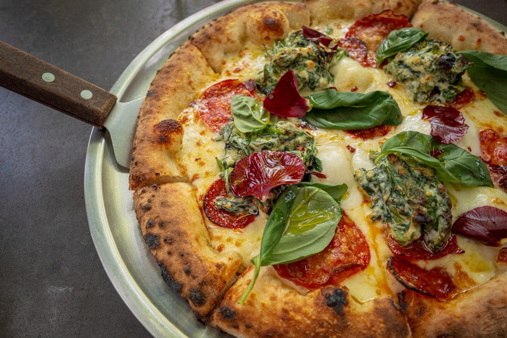
<svg viewBox="0 0 507 338"><path fill-rule="evenodd" d="M296 74L300 90L306 87L322 90L332 86L334 75L330 68L345 52L308 41L303 31L299 30L285 40L276 41L272 47L266 47L266 54L269 61L264 65L257 83L265 93L270 93L288 70Z"/></svg>

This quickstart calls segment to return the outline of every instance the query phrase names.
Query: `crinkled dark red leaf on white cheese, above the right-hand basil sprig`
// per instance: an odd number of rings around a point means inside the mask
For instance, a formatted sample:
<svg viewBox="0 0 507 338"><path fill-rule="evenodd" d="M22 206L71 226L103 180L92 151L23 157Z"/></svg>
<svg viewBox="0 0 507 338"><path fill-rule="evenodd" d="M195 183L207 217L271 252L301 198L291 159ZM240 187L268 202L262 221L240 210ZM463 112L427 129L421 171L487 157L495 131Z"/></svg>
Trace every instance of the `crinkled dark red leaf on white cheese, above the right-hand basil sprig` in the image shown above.
<svg viewBox="0 0 507 338"><path fill-rule="evenodd" d="M468 131L463 114L452 107L426 106L422 118L429 120L431 136L440 143L458 141Z"/></svg>

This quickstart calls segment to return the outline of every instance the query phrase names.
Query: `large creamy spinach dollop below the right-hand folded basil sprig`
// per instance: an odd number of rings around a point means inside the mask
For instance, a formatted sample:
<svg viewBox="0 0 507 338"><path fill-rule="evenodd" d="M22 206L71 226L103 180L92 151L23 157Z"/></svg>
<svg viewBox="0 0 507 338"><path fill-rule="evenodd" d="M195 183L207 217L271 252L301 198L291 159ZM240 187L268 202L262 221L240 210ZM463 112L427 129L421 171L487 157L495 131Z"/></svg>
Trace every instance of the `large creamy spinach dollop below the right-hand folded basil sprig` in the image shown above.
<svg viewBox="0 0 507 338"><path fill-rule="evenodd" d="M355 178L370 197L372 220L388 223L402 246L422 239L429 251L436 252L446 244L452 204L445 184L431 168L410 156L390 154L372 168L357 170Z"/></svg>

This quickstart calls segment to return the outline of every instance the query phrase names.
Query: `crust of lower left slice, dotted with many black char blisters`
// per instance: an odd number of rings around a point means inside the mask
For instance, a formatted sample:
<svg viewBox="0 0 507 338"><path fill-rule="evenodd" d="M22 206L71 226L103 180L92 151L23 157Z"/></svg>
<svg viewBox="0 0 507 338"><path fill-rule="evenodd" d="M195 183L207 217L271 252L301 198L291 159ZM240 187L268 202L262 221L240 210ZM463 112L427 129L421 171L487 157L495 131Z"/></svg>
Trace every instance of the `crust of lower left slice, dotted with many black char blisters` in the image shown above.
<svg viewBox="0 0 507 338"><path fill-rule="evenodd" d="M206 316L236 279L240 259L220 255L211 246L190 184L146 186L134 192L134 204L144 241L164 281L198 316Z"/></svg>

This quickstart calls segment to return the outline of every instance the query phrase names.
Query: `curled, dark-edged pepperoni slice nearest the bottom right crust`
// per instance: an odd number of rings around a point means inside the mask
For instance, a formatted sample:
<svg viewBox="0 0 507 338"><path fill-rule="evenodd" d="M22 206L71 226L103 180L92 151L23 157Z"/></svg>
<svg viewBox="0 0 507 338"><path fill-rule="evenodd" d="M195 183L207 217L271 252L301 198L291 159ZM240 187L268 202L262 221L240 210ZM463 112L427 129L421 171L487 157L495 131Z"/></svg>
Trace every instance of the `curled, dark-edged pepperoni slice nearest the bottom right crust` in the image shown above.
<svg viewBox="0 0 507 338"><path fill-rule="evenodd" d="M387 270L410 290L445 300L455 290L451 276L441 267L423 269L397 257L387 259Z"/></svg>

